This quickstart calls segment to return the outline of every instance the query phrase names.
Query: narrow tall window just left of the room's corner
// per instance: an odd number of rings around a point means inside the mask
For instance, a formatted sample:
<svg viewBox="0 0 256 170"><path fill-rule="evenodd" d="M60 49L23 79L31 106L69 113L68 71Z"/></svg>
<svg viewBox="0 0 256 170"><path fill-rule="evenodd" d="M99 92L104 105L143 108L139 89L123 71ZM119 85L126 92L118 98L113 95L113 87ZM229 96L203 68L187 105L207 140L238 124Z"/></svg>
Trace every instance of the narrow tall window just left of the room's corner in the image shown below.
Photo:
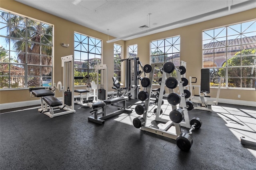
<svg viewBox="0 0 256 170"><path fill-rule="evenodd" d="M122 59L122 47L114 44L114 77L121 81L121 61Z"/></svg>

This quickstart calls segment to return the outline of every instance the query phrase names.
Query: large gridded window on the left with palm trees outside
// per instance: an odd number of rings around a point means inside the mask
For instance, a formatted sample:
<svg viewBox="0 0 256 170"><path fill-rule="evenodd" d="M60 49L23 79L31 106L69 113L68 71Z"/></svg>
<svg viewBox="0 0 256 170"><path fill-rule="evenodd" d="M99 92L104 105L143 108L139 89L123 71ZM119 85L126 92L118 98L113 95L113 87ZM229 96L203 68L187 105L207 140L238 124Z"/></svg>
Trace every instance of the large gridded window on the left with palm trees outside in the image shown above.
<svg viewBox="0 0 256 170"><path fill-rule="evenodd" d="M0 89L51 86L53 26L0 10Z"/></svg>

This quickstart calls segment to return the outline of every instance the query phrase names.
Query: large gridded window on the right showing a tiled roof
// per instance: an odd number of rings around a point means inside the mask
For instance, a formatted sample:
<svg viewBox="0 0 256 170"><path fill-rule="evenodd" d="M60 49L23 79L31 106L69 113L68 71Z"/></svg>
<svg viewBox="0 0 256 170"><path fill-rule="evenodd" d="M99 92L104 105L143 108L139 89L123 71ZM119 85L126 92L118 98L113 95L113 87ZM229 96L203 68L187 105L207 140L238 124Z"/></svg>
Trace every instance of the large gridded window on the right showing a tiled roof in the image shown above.
<svg viewBox="0 0 256 170"><path fill-rule="evenodd" d="M202 43L203 68L210 68L212 86L213 77L224 77L226 87L255 88L255 20L205 30Z"/></svg>

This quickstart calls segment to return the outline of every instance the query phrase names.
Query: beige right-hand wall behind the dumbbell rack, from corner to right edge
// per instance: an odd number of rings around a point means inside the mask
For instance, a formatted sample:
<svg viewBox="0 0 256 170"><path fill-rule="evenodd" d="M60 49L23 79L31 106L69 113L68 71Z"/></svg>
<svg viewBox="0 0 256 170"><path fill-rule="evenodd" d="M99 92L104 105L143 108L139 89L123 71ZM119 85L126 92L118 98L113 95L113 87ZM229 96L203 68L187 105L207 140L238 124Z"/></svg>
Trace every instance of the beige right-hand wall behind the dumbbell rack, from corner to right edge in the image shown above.
<svg viewBox="0 0 256 170"><path fill-rule="evenodd" d="M202 68L202 30L243 22L246 20L255 20L255 18L256 9L254 8L252 10L240 12L230 16L193 24L190 26L184 26L182 28L144 36L142 38L128 40L125 42L125 45L127 46L137 43L138 57L140 57L142 64L145 65L150 63L150 41L180 35L180 60L187 63L186 77L197 77L198 80L200 80L200 70ZM197 85L200 85L200 81L198 81ZM209 95L211 97L216 97L217 89L211 89L210 91L211 93ZM241 98L238 98L238 95L241 95ZM256 102L256 91L255 89L221 89L220 98Z"/></svg>

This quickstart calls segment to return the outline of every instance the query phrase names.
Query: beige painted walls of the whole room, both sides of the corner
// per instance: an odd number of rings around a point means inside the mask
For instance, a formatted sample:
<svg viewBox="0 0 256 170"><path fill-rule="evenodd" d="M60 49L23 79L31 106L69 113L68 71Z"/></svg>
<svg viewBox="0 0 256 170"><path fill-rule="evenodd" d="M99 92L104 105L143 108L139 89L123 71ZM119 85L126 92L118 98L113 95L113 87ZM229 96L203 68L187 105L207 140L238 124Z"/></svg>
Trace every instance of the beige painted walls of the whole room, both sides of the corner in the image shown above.
<svg viewBox="0 0 256 170"><path fill-rule="evenodd" d="M52 16L48 13L36 10L24 4L20 4L14 0L0 0L0 7L24 16L28 16L43 22L48 22L54 24L54 70L53 70L53 81L56 83L61 80L62 68L60 57L71 55L74 53L74 32L79 32L103 40L103 63L108 65L108 90L112 91L111 87L113 84L112 75L113 70L113 44L106 43L108 36L100 32L91 30L89 28L74 24L62 18ZM186 26L166 32L161 32L158 34L153 34L150 36L145 36L142 38L137 38L129 41L118 41L115 42L123 46L123 52L126 54L127 45L138 44L138 57L142 64L150 63L150 41L158 40L162 38L167 38L171 36L180 35L181 37L181 57L180 59L187 62L187 73L186 77L193 76L200 78L200 69L202 68L202 30L208 28L214 28L218 26L223 26L226 24L233 24L236 22L242 22L245 20L254 19L255 9L248 10L246 12L241 12L238 14L233 14L231 16L226 16L223 18L218 18L215 20L210 20L207 22L202 22L199 24L194 24L191 26ZM109 37L111 40L113 37ZM62 47L60 43L69 43L70 46ZM124 56L124 55L123 55ZM212 97L216 96L216 90L212 90ZM235 90L235 89L222 89L220 98L223 99L238 99L237 95L240 94L241 98L239 100L244 101L256 101L255 90ZM60 92L56 92L57 97L61 97ZM15 89L15 90L1 90L0 91L0 104L2 103L12 103L20 101L29 101L36 98L31 98L28 89Z"/></svg>

